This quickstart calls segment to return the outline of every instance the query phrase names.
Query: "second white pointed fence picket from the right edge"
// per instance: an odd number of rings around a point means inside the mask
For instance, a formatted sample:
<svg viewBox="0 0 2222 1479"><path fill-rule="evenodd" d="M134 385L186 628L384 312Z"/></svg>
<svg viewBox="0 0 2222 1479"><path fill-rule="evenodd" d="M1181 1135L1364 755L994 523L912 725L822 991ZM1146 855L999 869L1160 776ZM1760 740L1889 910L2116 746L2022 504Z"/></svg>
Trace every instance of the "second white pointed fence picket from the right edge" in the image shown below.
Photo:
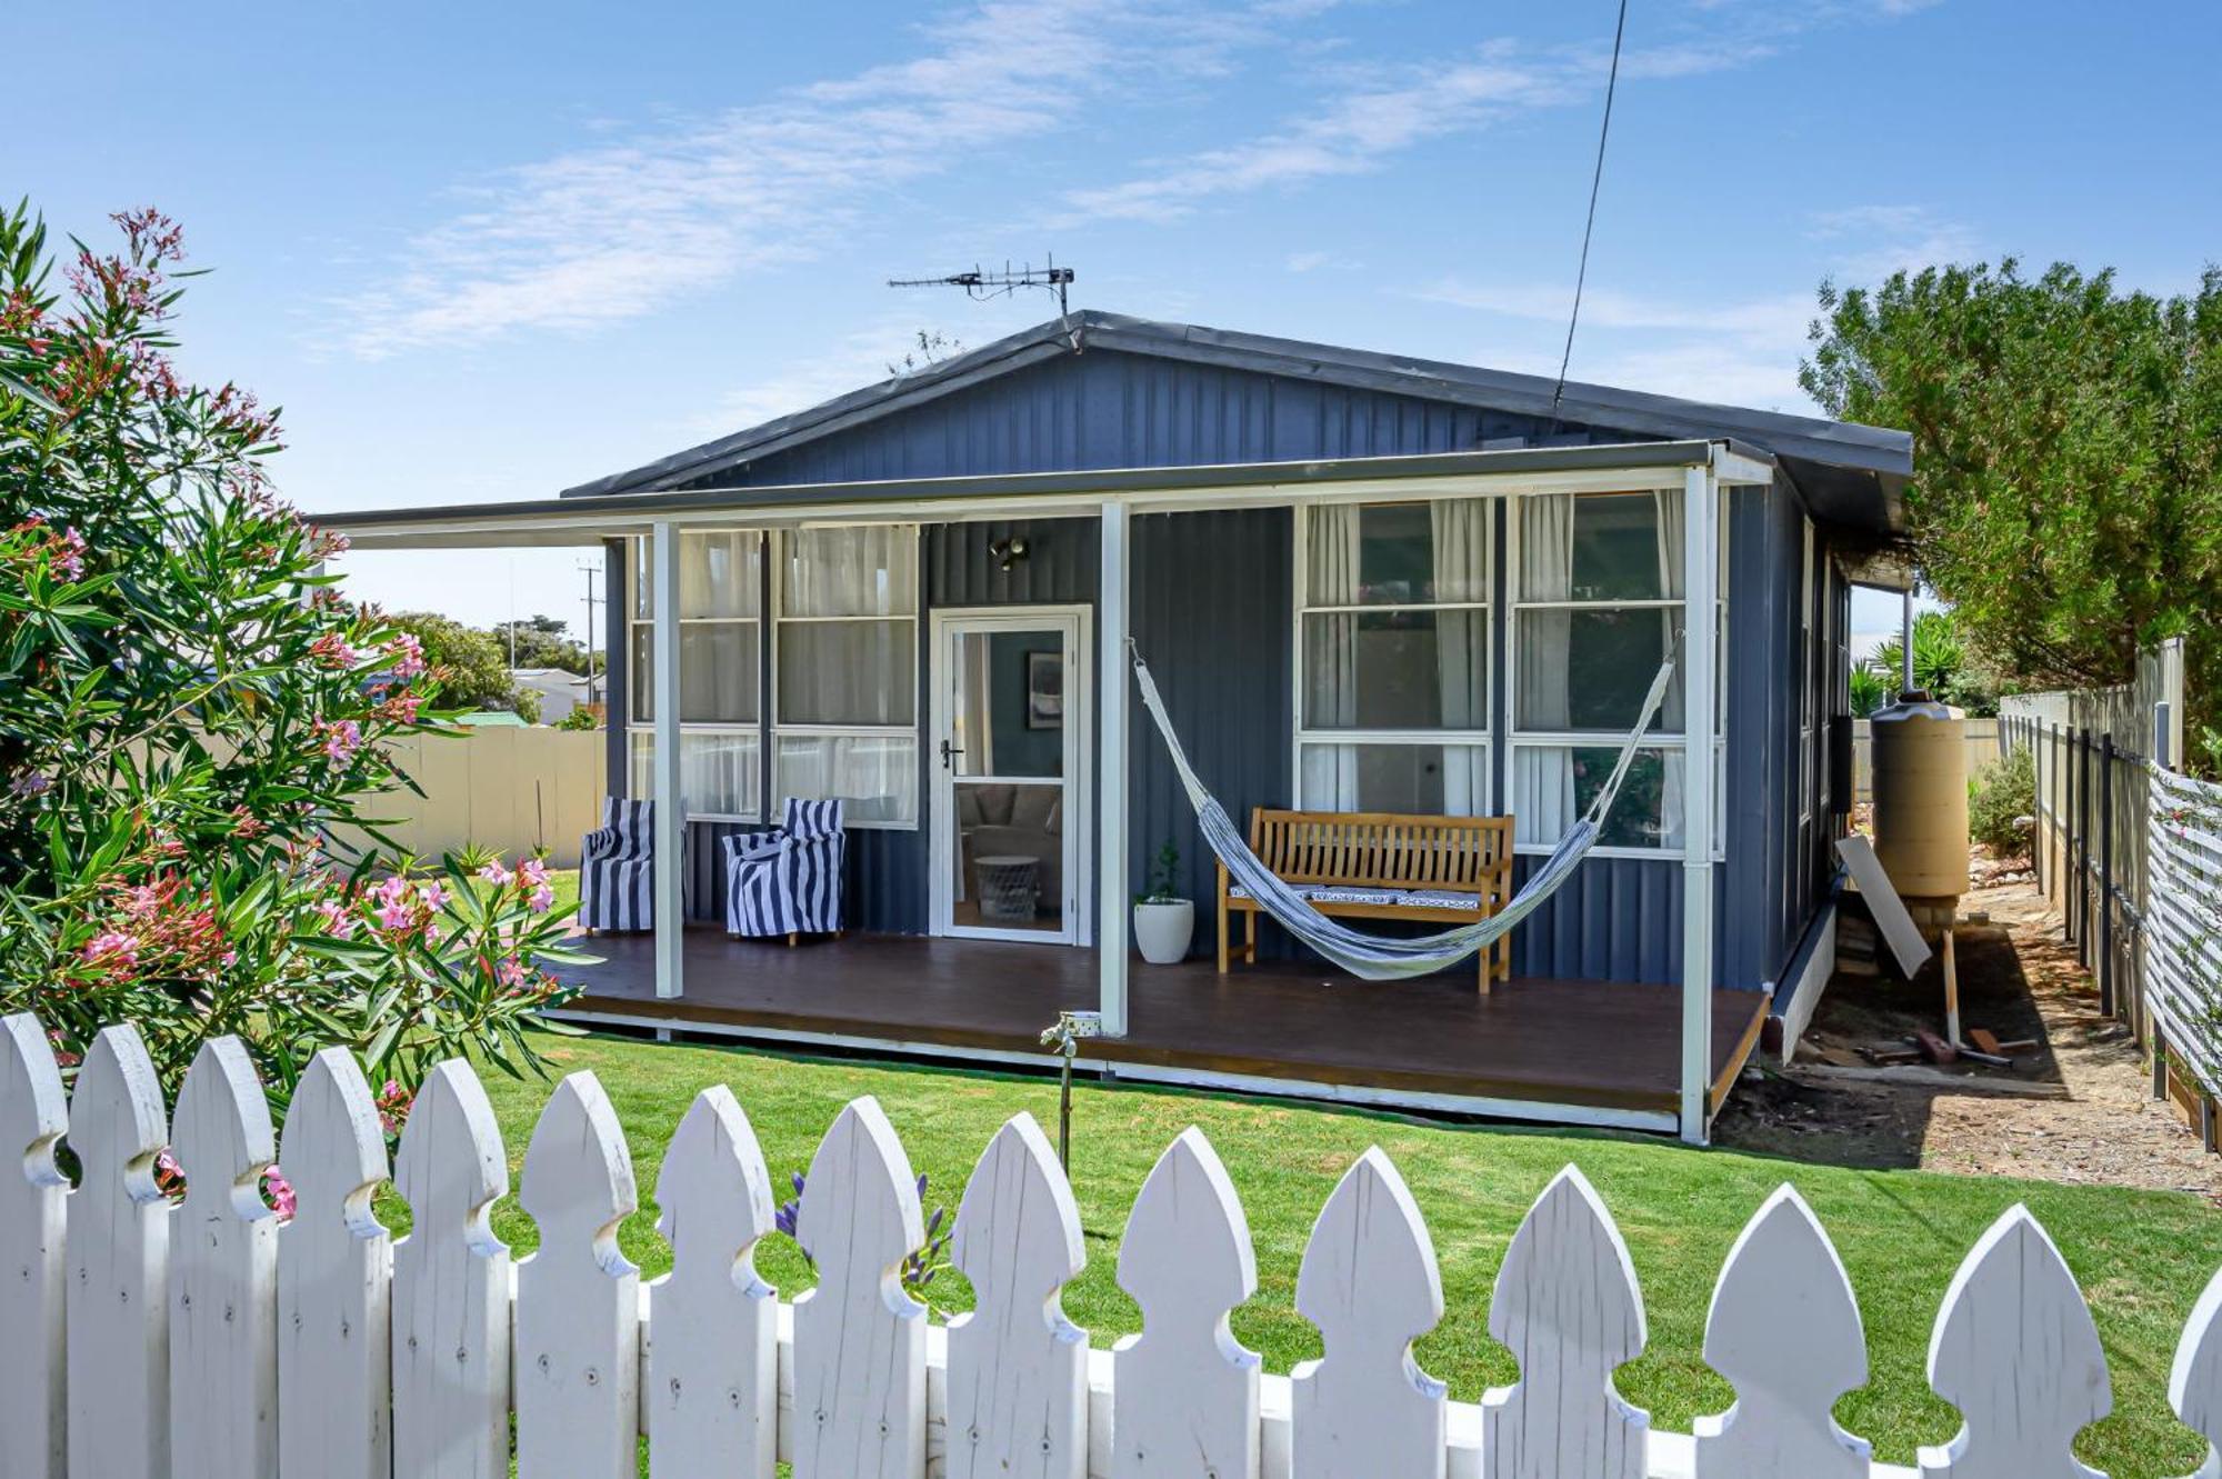
<svg viewBox="0 0 2222 1479"><path fill-rule="evenodd" d="M1929 1337L1929 1386L1962 1428L1922 1448L1940 1479L2093 1479L2069 1446L2113 1410L2106 1352L2060 1248L2011 1208L1978 1239L1944 1290Z"/></svg>

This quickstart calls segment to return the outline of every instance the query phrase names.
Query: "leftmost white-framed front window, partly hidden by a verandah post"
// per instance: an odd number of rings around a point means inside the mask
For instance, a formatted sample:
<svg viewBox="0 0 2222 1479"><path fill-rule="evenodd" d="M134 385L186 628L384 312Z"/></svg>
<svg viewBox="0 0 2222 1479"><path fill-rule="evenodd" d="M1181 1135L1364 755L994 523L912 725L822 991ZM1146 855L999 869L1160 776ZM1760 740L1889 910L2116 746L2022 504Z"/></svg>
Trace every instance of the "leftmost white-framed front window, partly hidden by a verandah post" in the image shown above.
<svg viewBox="0 0 2222 1479"><path fill-rule="evenodd" d="M631 540L627 779L655 795L655 573ZM680 791L695 822L760 822L764 535L680 533Z"/></svg>

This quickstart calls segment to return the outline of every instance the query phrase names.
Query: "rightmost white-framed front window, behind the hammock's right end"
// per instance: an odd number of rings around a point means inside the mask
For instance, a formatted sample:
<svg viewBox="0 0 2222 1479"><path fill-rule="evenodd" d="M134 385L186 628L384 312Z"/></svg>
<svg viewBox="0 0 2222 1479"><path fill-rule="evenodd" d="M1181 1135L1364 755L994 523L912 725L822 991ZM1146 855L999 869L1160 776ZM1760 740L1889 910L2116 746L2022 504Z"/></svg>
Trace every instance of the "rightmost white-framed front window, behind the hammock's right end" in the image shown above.
<svg viewBox="0 0 2222 1479"><path fill-rule="evenodd" d="M1726 531L1726 517L1722 517ZM1629 724L1682 628L1682 489L1522 493L1511 517L1511 813L1520 851L1547 853L1595 799ZM1722 533L1726 566L1726 533ZM1722 593L1726 571L1722 569ZM1718 604L1726 653L1726 600ZM1726 713L1726 666L1715 724ZM1724 724L1715 733L1724 733ZM1715 782L1724 746L1713 746ZM1600 853L1662 855L1682 846L1686 777L1682 668L1620 799ZM1715 784L1715 833L1724 811Z"/></svg>

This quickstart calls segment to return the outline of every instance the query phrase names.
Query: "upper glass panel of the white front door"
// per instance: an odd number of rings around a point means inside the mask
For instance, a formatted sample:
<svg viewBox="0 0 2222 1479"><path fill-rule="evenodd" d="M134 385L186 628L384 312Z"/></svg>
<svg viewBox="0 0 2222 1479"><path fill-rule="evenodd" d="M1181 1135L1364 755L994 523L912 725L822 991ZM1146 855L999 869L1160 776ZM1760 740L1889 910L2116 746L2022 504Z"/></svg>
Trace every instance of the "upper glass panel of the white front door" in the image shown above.
<svg viewBox="0 0 2222 1479"><path fill-rule="evenodd" d="M1064 775L1064 633L958 631L949 651L949 768Z"/></svg>

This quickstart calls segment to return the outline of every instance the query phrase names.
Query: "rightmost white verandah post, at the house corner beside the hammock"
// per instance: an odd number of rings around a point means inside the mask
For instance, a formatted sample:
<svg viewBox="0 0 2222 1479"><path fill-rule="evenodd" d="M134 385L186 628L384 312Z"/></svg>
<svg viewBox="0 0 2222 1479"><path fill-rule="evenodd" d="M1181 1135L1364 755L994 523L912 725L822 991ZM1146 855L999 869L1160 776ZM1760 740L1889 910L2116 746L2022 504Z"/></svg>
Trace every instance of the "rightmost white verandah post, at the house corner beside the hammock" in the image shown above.
<svg viewBox="0 0 2222 1479"><path fill-rule="evenodd" d="M1713 1079L1713 671L1720 482L1682 475L1682 1139L1702 1146Z"/></svg>

